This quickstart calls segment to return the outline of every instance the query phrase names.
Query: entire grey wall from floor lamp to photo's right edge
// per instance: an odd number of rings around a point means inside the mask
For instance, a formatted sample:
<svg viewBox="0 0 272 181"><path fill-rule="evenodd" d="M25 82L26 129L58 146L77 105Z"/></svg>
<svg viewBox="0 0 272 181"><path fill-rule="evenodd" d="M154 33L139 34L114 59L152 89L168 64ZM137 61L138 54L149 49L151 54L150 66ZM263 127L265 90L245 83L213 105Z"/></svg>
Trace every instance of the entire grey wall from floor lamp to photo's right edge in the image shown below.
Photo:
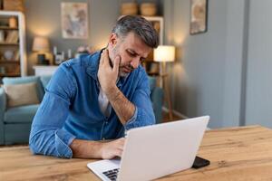
<svg viewBox="0 0 272 181"><path fill-rule="evenodd" d="M209 114L209 127L272 128L270 0L209 0L208 33L189 34L189 0L164 2L165 42L179 50L169 65L173 107Z"/></svg>

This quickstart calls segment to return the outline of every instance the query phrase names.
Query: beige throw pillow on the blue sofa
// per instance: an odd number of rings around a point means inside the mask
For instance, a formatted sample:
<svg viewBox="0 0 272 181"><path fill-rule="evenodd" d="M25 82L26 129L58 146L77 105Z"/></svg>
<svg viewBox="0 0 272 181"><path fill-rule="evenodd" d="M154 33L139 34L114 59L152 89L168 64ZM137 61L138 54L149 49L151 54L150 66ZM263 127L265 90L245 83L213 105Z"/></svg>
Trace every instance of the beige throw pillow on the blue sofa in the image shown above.
<svg viewBox="0 0 272 181"><path fill-rule="evenodd" d="M7 107L17 107L40 103L37 96L36 83L4 85Z"/></svg>

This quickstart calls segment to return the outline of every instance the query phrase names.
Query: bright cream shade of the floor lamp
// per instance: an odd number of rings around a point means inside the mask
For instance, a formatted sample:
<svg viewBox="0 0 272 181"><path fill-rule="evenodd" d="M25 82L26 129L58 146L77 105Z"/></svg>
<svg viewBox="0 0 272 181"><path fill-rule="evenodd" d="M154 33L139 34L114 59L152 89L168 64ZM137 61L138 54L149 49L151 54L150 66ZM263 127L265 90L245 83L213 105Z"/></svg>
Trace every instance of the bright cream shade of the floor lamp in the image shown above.
<svg viewBox="0 0 272 181"><path fill-rule="evenodd" d="M175 47L170 45L160 45L154 50L155 62L174 62Z"/></svg>

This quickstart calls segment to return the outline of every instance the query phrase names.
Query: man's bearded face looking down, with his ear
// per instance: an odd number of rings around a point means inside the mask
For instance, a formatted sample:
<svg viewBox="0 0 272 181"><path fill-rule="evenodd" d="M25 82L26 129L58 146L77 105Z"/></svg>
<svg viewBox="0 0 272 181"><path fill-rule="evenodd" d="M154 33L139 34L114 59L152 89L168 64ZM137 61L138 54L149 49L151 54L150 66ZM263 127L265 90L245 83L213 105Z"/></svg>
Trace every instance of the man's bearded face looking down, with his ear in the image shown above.
<svg viewBox="0 0 272 181"><path fill-rule="evenodd" d="M125 37L117 37L115 33L112 33L108 49L112 64L116 56L121 57L119 68L121 77L127 76L136 69L151 52L151 47L132 32Z"/></svg>

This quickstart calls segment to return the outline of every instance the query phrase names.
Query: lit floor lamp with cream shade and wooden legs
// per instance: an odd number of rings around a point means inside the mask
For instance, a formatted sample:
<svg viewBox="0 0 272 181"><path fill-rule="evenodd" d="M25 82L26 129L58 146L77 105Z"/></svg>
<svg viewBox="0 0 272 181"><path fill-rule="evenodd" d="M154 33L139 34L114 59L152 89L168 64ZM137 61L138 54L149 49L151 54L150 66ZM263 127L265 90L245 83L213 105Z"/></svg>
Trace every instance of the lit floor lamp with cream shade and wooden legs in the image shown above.
<svg viewBox="0 0 272 181"><path fill-rule="evenodd" d="M170 100L170 90L167 81L168 73L166 71L166 62L174 62L175 61L175 47L170 45L160 45L154 51L154 61L160 62L160 78L162 79L162 87L165 91L165 98L167 100L168 108L169 108L169 116L170 119L173 119L172 114L172 105Z"/></svg>

